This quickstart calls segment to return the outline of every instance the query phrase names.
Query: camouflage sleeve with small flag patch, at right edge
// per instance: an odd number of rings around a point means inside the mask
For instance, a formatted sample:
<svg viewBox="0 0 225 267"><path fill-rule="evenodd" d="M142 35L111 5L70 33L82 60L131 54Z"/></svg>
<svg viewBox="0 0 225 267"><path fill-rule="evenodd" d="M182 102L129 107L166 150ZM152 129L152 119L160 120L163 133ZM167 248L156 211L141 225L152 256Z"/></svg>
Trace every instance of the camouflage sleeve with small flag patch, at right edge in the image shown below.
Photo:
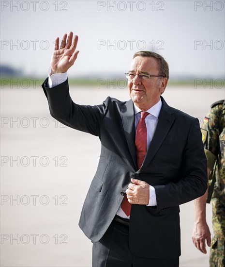
<svg viewBox="0 0 225 267"><path fill-rule="evenodd" d="M201 125L202 141L207 158L207 167L213 169L216 157L219 153L219 118L222 104L213 106Z"/></svg>

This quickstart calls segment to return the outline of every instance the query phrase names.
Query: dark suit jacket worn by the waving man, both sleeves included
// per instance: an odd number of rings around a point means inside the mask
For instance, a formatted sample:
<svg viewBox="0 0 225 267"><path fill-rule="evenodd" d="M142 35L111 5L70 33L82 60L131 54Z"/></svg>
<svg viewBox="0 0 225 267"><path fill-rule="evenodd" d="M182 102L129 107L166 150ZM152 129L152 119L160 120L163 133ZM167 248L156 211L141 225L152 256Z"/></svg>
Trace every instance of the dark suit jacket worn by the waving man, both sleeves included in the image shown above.
<svg viewBox="0 0 225 267"><path fill-rule="evenodd" d="M133 204L130 250L140 257L180 256L179 205L202 196L207 189L206 157L197 118L162 100L158 124L143 165L136 166L135 114L132 100L108 97L103 104L75 104L68 81L43 89L50 114L76 130L99 136L101 156L83 205L79 226L96 242L115 217L130 179L155 188L157 207ZM140 200L141 201L141 200Z"/></svg>

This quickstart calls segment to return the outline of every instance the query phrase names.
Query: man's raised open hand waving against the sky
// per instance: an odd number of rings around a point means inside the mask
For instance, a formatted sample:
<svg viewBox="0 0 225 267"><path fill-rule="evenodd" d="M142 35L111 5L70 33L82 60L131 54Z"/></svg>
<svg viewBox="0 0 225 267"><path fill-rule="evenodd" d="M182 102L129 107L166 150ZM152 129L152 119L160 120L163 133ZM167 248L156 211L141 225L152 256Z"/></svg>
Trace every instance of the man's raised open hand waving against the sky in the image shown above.
<svg viewBox="0 0 225 267"><path fill-rule="evenodd" d="M51 73L63 73L66 72L71 66L74 65L77 55L79 53L76 49L78 36L70 32L67 38L65 33L62 37L61 46L59 47L60 38L55 40L55 49L51 57Z"/></svg>

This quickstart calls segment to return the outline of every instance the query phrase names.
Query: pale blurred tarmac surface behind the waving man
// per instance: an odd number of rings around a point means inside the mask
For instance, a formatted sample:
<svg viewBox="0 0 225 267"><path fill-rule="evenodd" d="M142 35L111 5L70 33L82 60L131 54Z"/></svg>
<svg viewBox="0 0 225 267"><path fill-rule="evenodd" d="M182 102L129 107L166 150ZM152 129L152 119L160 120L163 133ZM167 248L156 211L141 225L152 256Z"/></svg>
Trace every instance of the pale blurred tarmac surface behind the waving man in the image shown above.
<svg viewBox="0 0 225 267"><path fill-rule="evenodd" d="M129 100L126 89L71 88L79 104L107 96ZM200 122L225 89L167 87L165 101ZM49 114L42 89L1 89L1 262L2 267L90 267L91 242L78 227L94 176L100 142L63 127ZM94 203L93 203L94 204ZM192 244L194 201L180 206L180 267L208 267ZM211 205L207 204L211 229Z"/></svg>

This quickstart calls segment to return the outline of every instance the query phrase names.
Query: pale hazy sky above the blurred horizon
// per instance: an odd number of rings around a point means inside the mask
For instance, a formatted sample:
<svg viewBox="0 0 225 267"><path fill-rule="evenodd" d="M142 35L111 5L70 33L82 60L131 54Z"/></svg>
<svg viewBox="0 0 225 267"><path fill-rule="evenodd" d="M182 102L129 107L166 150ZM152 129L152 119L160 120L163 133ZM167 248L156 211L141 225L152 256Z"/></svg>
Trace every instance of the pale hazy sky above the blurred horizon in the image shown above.
<svg viewBox="0 0 225 267"><path fill-rule="evenodd" d="M0 64L47 76L54 40L72 31L70 76L123 74L133 54L162 54L170 77L224 78L225 1L1 0Z"/></svg>

